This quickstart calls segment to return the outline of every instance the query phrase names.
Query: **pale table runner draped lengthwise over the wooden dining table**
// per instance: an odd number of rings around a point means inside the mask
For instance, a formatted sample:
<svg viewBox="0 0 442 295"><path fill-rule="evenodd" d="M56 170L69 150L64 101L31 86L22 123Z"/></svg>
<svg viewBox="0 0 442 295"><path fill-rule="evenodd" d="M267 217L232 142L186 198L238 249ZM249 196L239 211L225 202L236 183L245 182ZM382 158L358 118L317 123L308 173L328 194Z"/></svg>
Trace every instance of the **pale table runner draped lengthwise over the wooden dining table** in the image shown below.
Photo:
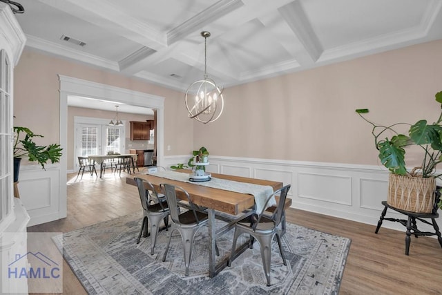
<svg viewBox="0 0 442 295"><path fill-rule="evenodd" d="M267 198L273 193L273 187L269 185L252 184L247 182L238 182L234 180L225 180L221 178L213 178L206 182L190 181L190 174L176 172L176 171L158 171L155 173L148 173L150 175L158 176L160 178L167 178L181 182L189 182L193 184L202 185L204 187L211 187L213 189L224 189L224 191L234 191L236 193L247 193L255 198L256 211L260 212L265 205ZM268 203L267 207L276 204L273 197Z"/></svg>

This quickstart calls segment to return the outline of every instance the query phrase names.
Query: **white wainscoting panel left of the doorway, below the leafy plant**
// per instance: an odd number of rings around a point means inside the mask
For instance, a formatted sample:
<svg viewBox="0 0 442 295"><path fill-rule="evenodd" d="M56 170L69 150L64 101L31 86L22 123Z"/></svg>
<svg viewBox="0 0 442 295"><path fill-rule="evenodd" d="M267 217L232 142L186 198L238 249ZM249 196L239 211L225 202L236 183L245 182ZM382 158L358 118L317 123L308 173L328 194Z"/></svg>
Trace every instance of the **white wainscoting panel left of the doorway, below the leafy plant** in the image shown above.
<svg viewBox="0 0 442 295"><path fill-rule="evenodd" d="M19 194L28 211L28 227L66 217L66 208L60 202L60 169L58 165L21 166ZM64 192L66 193L66 192Z"/></svg>

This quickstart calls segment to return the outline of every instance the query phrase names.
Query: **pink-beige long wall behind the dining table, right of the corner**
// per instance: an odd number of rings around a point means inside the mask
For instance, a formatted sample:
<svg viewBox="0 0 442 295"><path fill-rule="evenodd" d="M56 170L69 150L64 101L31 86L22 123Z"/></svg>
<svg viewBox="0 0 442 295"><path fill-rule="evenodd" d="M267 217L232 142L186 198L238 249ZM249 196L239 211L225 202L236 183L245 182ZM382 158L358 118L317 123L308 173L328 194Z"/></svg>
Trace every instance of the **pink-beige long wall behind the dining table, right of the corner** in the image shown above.
<svg viewBox="0 0 442 295"><path fill-rule="evenodd" d="M441 111L442 41L224 89L224 114L197 124L194 148L213 155L378 164L374 122L434 122Z"/></svg>

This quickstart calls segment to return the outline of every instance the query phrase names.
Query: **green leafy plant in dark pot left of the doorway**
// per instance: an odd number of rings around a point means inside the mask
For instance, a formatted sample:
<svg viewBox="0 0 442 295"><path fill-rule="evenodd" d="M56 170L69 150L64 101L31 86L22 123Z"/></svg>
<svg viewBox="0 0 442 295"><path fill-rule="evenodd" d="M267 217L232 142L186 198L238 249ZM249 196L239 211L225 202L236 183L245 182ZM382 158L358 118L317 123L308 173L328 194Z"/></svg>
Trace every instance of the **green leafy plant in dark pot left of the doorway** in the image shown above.
<svg viewBox="0 0 442 295"><path fill-rule="evenodd" d="M14 126L14 182L19 180L19 169L22 158L28 158L30 162L38 162L41 169L50 160L52 163L59 162L61 151L59 144L49 144L48 146L39 146L32 139L33 137L44 137L35 134L26 127Z"/></svg>

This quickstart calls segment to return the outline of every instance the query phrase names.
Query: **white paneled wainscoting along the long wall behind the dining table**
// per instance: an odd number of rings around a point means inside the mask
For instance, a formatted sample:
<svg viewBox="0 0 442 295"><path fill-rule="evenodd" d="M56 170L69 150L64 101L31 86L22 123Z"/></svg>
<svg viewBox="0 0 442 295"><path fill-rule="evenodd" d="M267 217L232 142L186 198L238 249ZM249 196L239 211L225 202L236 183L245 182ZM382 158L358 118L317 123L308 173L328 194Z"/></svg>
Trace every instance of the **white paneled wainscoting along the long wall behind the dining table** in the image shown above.
<svg viewBox="0 0 442 295"><path fill-rule="evenodd" d="M189 155L169 156L164 160L162 165L170 169L173 164L187 163ZM291 207L373 225L373 232L383 210L381 202L387 200L388 171L383 166L213 155L209 155L209 162L206 168L209 172L291 184L288 196L293 202ZM405 216L389 209L387 217ZM442 221L438 223L442 225ZM383 227L405 232L398 222L384 221ZM420 227L434 231L427 225Z"/></svg>

